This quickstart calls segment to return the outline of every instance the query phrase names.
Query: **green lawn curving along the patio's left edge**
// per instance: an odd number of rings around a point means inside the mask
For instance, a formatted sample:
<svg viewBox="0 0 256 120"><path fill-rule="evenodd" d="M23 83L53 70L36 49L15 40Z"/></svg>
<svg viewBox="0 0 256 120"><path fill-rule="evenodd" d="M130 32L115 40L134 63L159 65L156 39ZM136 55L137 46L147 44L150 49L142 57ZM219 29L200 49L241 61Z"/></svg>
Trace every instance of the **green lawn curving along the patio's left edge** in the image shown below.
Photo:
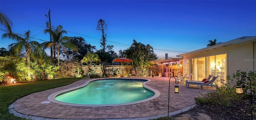
<svg viewBox="0 0 256 120"><path fill-rule="evenodd" d="M42 80L38 82L28 82L9 86L0 86L0 120L24 120L10 114L8 107L10 104L29 94L40 92L60 86L71 84L82 78L60 78L54 80Z"/></svg>

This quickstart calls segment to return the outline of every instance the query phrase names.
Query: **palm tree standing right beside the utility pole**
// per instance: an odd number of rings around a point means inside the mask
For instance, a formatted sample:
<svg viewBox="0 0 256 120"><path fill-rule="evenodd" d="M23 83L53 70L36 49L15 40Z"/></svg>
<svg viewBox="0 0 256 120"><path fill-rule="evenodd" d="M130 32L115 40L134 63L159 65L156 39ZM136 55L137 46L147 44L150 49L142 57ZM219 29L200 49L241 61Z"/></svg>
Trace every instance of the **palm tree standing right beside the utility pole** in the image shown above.
<svg viewBox="0 0 256 120"><path fill-rule="evenodd" d="M50 33L53 38L53 42L44 42L42 43L42 46L44 48L54 48L54 54L55 51L57 51L58 56L58 66L60 66L60 50L63 50L64 53L67 53L66 48L70 48L76 52L78 52L78 48L76 45L71 43L71 40L68 36L62 37L62 35L66 32L66 30L62 30L62 26L59 25L55 30L46 29L44 30L44 33Z"/></svg>

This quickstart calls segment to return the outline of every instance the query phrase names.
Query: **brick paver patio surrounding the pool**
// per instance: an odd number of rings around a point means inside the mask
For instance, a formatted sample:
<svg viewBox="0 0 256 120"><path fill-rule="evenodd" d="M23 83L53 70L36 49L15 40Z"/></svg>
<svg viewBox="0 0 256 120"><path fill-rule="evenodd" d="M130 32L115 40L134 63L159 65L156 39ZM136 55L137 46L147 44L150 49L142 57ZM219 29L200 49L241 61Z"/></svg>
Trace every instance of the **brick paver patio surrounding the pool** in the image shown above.
<svg viewBox="0 0 256 120"><path fill-rule="evenodd" d="M134 78L134 77L133 77ZM158 90L160 96L156 99L130 104L124 106L108 106L108 107L81 107L56 104L53 102L42 103L49 101L47 98L50 94L72 88L85 83L85 80L79 80L67 86L37 92L18 99L12 104L9 109L11 113L28 119L133 119L147 120L167 116L168 112L168 82L167 77L146 77L151 80L146 85L150 88ZM194 97L200 93L206 94L216 90L215 88L190 87L186 88L184 84L179 85L179 94L174 94L175 82L171 80L170 84L170 115L178 114L189 110L195 104ZM35 86L36 87L36 86Z"/></svg>

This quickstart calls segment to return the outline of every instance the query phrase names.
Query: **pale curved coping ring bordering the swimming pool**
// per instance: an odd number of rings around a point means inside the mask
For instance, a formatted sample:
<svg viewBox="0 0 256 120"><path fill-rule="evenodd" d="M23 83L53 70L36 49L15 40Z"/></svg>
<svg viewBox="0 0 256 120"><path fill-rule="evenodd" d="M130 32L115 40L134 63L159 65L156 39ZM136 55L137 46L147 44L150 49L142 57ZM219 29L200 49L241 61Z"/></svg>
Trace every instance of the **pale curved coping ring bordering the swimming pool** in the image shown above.
<svg viewBox="0 0 256 120"><path fill-rule="evenodd" d="M80 85L80 86L76 86L73 88L68 88L65 90L61 90L58 92L54 92L53 94L51 94L50 96L48 96L48 100L50 102L54 102L56 104L64 104L64 105L69 105L69 106L84 106L84 107L108 107L108 106L124 106L124 105L130 105L130 104L136 104L136 103L141 103L141 102L146 102L149 100L153 100L155 98L158 98L160 96L160 92L158 92L157 90L150 88L149 86L146 85L147 82L150 82L151 80L146 79L146 78L134 78L134 80L147 80L145 82L142 83L142 86L152 92L154 92L154 96L150 97L150 98L146 98L144 100L139 100L139 101L135 101L135 102L128 102L128 103L121 103L121 104L99 104L99 105L92 105L92 104L73 104L73 103L67 103L67 102L61 102L56 100L56 96L59 96L60 94L64 94L65 92L70 92L70 91L74 91L74 90L78 90L80 88L83 88L85 86L87 86L90 82L92 81L96 81L96 80L108 80L108 79L131 79L131 78L93 78L90 80L87 80L84 84ZM46 101L47 102L47 101Z"/></svg>

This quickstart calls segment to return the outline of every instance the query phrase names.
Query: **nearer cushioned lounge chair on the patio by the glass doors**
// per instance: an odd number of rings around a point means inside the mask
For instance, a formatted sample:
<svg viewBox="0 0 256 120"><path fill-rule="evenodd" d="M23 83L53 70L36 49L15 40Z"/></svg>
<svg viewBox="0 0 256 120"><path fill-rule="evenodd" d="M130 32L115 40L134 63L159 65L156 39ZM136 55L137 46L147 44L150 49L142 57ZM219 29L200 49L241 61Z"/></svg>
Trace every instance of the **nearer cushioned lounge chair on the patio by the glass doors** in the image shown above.
<svg viewBox="0 0 256 120"><path fill-rule="evenodd" d="M215 80L218 78L218 76L213 76L211 80L206 80L206 82L197 82L197 81L186 81L186 87L188 88L189 85L197 85L200 86L200 89L203 88L203 86L210 86L210 87L216 87L216 90L218 88L218 85L216 84Z"/></svg>

